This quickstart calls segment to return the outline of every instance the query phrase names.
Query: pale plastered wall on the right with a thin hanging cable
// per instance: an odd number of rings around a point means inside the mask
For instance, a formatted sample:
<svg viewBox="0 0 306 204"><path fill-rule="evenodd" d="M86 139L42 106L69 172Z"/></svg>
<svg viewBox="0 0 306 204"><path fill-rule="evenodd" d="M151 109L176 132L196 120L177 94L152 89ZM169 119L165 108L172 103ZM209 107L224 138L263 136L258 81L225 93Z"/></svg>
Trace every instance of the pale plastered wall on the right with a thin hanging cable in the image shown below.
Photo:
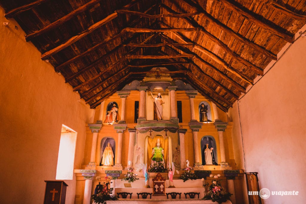
<svg viewBox="0 0 306 204"><path fill-rule="evenodd" d="M258 172L259 188L299 191L298 195L271 195L263 203L306 200L305 49L306 38L294 42L229 110L237 166Z"/></svg>

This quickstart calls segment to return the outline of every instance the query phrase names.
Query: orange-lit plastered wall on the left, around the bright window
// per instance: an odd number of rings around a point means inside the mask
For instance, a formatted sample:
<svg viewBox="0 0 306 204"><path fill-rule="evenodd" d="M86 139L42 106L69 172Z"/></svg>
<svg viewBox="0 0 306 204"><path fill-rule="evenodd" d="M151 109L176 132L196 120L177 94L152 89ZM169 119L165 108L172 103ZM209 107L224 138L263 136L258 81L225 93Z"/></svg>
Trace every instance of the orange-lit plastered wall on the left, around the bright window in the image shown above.
<svg viewBox="0 0 306 204"><path fill-rule="evenodd" d="M40 59L19 25L4 18L2 8L0 22L0 200L43 203L44 180L56 176L62 124L77 132L74 168L79 169L85 124L93 122L94 110ZM72 204L75 179L65 182L66 203Z"/></svg>

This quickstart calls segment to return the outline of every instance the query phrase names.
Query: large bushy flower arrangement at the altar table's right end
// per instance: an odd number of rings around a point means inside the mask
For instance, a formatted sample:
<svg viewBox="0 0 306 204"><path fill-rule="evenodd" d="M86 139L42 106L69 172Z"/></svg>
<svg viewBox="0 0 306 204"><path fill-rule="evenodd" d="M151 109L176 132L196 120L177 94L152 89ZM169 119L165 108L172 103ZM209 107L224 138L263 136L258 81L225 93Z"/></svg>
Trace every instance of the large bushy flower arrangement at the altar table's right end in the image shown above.
<svg viewBox="0 0 306 204"><path fill-rule="evenodd" d="M226 192L224 187L221 186L221 180L217 180L217 178L220 177L220 174L217 174L215 176L211 174L209 176L211 178L214 177L214 179L211 181L212 184L208 187L208 191L202 199L211 200L212 202L218 203L226 202L227 200L229 200L230 196L233 194Z"/></svg>

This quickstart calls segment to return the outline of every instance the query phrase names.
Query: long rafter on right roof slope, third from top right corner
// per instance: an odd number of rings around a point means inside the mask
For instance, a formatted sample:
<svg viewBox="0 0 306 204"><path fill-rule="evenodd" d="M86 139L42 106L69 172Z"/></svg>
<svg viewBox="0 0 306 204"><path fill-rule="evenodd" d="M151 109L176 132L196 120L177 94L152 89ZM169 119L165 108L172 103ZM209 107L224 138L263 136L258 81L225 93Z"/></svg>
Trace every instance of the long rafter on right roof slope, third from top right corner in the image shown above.
<svg viewBox="0 0 306 204"><path fill-rule="evenodd" d="M214 17L212 17L209 13L207 13L200 5L195 4L194 2L190 1L190 0L183 0L186 3L188 3L188 5L192 6L194 9L196 9L197 11L199 11L200 13L204 14L204 17L213 22L215 25L217 25L218 28L222 29L224 32L232 35L234 38L241 40L244 44L252 47L253 49L255 49L256 51L264 54L265 56L273 59L273 60L277 60L277 55L271 53L269 50L266 50L264 47L259 46L258 44L250 41L249 39L245 38L244 36L240 35L239 33L234 32L232 29L230 29L229 27L227 27L226 25L222 24L220 21L218 21L217 19L215 19Z"/></svg>

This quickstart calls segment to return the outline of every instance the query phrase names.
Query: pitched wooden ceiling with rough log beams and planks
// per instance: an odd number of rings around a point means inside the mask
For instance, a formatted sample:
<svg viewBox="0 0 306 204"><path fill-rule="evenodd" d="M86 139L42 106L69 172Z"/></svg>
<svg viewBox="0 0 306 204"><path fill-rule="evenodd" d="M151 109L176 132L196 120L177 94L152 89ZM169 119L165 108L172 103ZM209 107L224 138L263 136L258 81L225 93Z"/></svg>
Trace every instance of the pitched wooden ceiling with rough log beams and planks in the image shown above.
<svg viewBox="0 0 306 204"><path fill-rule="evenodd" d="M306 0L0 0L95 108L154 67L227 111L306 23ZM300 33L301 34L301 33Z"/></svg>

